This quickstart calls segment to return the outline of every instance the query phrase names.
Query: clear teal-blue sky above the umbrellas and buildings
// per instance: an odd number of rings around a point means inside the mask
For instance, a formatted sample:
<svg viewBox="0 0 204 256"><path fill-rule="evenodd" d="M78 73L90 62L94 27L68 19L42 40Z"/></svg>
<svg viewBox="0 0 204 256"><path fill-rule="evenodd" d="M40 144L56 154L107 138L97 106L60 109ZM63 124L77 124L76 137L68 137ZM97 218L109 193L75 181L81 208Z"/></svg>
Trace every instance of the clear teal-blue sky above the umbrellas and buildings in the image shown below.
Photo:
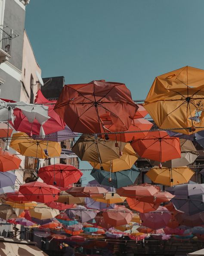
<svg viewBox="0 0 204 256"><path fill-rule="evenodd" d="M42 76L67 84L123 82L145 99L156 76L204 69L204 0L31 0L25 28Z"/></svg>

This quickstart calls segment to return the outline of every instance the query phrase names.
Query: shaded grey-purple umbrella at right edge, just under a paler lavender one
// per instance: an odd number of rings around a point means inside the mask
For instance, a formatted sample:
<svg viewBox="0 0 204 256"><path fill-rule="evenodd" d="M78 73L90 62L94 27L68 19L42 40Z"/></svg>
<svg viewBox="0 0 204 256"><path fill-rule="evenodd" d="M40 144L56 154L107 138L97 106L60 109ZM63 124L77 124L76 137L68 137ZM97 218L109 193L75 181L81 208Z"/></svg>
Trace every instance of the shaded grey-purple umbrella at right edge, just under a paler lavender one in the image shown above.
<svg viewBox="0 0 204 256"><path fill-rule="evenodd" d="M188 215L204 211L204 194L189 195L188 197L176 195L171 202L173 202L177 209Z"/></svg>

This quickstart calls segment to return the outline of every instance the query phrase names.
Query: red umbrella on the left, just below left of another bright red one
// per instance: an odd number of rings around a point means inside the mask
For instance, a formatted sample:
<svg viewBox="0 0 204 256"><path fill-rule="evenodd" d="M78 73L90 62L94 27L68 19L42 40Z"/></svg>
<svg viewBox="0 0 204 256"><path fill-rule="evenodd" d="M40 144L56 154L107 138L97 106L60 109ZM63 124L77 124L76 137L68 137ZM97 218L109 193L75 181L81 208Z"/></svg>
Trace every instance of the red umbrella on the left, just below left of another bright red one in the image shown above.
<svg viewBox="0 0 204 256"><path fill-rule="evenodd" d="M57 200L60 190L46 183L34 181L21 185L19 192L30 201L47 203Z"/></svg>

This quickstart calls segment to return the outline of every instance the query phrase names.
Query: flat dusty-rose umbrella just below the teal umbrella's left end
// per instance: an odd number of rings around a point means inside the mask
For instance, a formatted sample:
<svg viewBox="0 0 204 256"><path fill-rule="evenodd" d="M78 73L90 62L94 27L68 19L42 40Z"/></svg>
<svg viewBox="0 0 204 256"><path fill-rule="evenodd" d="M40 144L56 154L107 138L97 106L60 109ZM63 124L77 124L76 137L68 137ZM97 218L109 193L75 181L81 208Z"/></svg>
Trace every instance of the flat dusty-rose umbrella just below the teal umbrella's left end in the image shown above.
<svg viewBox="0 0 204 256"><path fill-rule="evenodd" d="M104 193L107 193L108 190L104 189L102 187L72 187L68 189L66 192L68 192L70 195L76 196L76 197L103 197Z"/></svg>

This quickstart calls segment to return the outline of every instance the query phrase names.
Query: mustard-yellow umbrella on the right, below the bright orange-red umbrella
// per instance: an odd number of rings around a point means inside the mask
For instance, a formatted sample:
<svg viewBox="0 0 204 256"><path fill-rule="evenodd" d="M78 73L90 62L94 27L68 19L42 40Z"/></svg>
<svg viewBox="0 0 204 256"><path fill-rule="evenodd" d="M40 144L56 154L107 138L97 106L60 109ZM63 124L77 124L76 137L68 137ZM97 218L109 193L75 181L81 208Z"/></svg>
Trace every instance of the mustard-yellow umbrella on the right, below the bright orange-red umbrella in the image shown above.
<svg viewBox="0 0 204 256"><path fill-rule="evenodd" d="M176 168L152 168L146 175L155 183L167 186L189 182L195 172L187 166Z"/></svg>

